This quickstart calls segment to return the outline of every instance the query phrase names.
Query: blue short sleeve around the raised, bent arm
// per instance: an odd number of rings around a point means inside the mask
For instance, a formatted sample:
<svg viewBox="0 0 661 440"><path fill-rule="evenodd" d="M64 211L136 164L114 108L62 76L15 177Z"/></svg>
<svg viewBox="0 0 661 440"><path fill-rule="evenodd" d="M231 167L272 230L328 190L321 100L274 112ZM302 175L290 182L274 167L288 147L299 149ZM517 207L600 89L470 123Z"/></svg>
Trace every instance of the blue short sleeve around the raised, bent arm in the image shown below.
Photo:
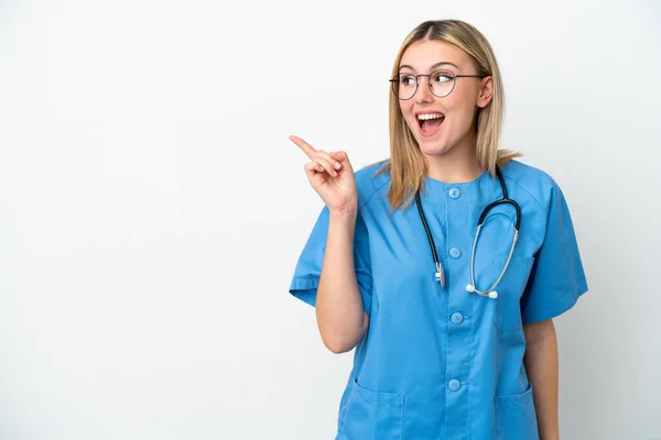
<svg viewBox="0 0 661 440"><path fill-rule="evenodd" d="M317 286L322 273L322 264L326 252L326 238L328 237L328 208L324 207L316 223L303 248L294 270L293 279L290 285L290 294L296 298L315 306ZM369 256L369 240L367 227L360 211L356 217L356 230L354 234L354 266L356 268L356 280L362 299L362 308L369 315L371 307L371 270Z"/></svg>

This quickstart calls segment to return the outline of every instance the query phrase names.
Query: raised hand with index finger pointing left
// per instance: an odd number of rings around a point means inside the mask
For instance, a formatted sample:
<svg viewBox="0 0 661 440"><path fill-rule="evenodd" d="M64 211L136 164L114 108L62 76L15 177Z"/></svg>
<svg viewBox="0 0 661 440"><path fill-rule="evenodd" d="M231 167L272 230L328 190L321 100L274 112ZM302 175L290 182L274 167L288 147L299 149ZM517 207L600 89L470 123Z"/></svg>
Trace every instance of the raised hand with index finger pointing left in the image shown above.
<svg viewBox="0 0 661 440"><path fill-rule="evenodd" d="M290 140L299 145L311 162L305 164L307 179L330 212L355 213L358 206L356 178L345 152L326 153L315 150L297 136Z"/></svg>

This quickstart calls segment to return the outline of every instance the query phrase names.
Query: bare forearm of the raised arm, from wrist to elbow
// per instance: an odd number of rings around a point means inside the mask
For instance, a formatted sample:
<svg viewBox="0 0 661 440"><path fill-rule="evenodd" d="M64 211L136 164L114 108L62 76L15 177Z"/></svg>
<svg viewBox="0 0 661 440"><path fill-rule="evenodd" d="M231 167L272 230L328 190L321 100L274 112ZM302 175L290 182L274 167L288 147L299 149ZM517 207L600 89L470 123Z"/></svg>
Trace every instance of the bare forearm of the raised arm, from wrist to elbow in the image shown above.
<svg viewBox="0 0 661 440"><path fill-rule="evenodd" d="M342 353L356 346L365 334L368 319L354 265L356 212L332 212L328 221L316 315L324 344L330 351Z"/></svg>

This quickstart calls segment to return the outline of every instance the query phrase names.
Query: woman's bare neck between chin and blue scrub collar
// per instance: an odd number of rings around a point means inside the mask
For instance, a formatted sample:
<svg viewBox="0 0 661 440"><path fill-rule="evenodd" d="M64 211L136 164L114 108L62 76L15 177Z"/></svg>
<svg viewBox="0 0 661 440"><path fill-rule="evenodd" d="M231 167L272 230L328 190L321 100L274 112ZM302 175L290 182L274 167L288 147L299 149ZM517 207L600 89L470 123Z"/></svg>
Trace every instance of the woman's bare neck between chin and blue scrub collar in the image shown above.
<svg viewBox="0 0 661 440"><path fill-rule="evenodd" d="M456 145L441 155L425 155L427 176L446 184L472 182L479 177L483 168L475 156L475 142Z"/></svg>

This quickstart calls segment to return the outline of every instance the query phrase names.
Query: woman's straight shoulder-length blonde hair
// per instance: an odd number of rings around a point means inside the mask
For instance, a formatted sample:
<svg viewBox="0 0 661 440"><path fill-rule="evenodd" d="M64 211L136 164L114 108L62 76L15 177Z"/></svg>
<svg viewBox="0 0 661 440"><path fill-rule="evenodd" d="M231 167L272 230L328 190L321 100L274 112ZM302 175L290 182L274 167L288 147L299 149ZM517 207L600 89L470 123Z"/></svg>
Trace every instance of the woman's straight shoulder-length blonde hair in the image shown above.
<svg viewBox="0 0 661 440"><path fill-rule="evenodd" d="M464 51L473 61L478 75L491 76L494 95L490 102L477 110L476 156L483 169L496 175L496 165L502 166L520 156L518 152L498 150L505 96L502 79L494 50L487 38L473 25L458 20L425 21L419 24L404 38L392 66L392 77L399 73L399 65L407 48L421 41L440 41ZM390 170L388 199L392 209L408 207L419 189L424 189L426 161L407 125L400 109L399 99L390 91L390 161L378 174ZM408 200L404 200L409 196Z"/></svg>

